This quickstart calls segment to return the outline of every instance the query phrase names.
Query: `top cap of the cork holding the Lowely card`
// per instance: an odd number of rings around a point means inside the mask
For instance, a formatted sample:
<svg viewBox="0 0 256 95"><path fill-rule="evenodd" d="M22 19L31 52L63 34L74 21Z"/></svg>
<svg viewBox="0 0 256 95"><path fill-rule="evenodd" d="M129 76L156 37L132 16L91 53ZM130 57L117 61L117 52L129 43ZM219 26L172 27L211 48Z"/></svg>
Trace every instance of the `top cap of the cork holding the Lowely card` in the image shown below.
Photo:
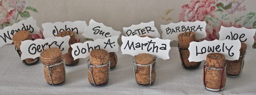
<svg viewBox="0 0 256 95"><path fill-rule="evenodd" d="M225 56L221 53L209 53L206 56L206 66L221 68L225 66Z"/></svg>

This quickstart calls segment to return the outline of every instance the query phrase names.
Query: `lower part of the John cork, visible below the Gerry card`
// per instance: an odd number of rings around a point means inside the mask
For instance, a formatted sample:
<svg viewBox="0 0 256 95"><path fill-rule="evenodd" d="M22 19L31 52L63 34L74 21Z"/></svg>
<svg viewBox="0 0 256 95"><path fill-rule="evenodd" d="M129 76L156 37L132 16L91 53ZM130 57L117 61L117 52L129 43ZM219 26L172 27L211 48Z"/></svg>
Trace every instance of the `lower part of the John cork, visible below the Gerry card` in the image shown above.
<svg viewBox="0 0 256 95"><path fill-rule="evenodd" d="M68 53L62 55L63 59L65 60L65 65L66 66L75 66L78 62L79 59L74 60L72 56L72 48L68 48Z"/></svg>

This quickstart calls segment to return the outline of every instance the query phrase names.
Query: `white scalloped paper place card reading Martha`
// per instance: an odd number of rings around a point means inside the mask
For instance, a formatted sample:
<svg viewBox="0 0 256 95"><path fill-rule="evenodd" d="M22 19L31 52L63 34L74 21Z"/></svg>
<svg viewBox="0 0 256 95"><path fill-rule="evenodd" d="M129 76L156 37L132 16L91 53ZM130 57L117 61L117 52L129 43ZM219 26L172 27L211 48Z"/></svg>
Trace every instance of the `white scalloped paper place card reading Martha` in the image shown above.
<svg viewBox="0 0 256 95"><path fill-rule="evenodd" d="M169 59L170 40L160 38L122 36L122 54L130 54L136 56L141 53L148 53L164 60Z"/></svg>

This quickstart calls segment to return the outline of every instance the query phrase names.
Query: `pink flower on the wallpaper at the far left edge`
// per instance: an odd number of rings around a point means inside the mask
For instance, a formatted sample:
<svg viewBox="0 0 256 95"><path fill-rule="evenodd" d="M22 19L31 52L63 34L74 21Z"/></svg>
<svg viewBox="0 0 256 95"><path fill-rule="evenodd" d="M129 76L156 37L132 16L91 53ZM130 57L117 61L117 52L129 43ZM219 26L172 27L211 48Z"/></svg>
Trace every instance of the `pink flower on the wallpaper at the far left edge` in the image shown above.
<svg viewBox="0 0 256 95"><path fill-rule="evenodd" d="M10 12L8 12L6 7L0 6L0 25L6 22L10 22L12 17L15 17L14 11L15 10L10 10Z"/></svg>

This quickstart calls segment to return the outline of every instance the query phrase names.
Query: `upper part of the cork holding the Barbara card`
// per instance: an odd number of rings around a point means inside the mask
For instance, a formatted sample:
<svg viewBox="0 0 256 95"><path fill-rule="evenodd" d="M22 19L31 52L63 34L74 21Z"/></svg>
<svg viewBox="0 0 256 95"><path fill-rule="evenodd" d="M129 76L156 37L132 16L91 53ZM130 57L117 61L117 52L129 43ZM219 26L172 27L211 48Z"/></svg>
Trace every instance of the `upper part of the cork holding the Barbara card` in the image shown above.
<svg viewBox="0 0 256 95"><path fill-rule="evenodd" d="M184 32L178 35L180 48L188 48L189 43L192 41L196 41L196 35L194 32Z"/></svg>

